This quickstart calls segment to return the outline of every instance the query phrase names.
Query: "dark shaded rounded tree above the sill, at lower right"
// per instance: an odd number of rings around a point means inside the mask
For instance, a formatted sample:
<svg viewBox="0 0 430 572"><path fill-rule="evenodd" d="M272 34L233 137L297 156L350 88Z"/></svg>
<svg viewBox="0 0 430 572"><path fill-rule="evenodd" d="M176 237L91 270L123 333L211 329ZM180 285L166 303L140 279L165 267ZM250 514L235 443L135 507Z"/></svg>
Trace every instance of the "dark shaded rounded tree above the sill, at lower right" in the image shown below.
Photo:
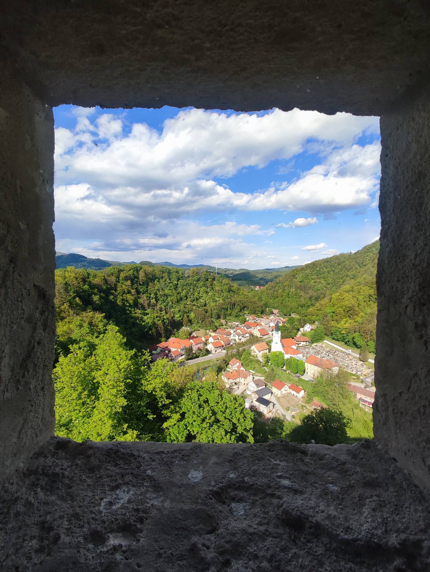
<svg viewBox="0 0 430 572"><path fill-rule="evenodd" d="M350 421L340 411L321 408L306 415L301 424L293 429L289 435L294 443L321 443L323 445L336 445L348 443L346 429Z"/></svg>

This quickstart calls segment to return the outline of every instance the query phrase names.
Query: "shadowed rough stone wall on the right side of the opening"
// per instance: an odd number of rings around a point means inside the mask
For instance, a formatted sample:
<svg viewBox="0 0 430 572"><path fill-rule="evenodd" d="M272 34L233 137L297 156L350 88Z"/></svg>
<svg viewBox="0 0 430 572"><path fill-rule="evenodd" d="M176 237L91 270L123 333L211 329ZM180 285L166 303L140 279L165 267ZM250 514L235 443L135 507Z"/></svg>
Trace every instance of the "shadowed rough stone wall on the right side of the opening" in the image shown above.
<svg viewBox="0 0 430 572"><path fill-rule="evenodd" d="M381 117L375 438L430 491L430 90Z"/></svg>

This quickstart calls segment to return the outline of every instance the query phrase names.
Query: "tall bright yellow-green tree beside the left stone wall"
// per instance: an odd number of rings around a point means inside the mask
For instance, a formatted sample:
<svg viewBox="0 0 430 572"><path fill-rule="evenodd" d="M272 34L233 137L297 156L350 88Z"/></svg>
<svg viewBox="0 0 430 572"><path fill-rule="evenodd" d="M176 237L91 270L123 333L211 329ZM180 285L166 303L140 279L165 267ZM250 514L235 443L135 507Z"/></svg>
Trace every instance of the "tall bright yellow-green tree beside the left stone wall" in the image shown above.
<svg viewBox="0 0 430 572"><path fill-rule="evenodd" d="M95 340L73 344L53 371L56 434L76 441L136 440L145 408L143 368L113 325Z"/></svg>

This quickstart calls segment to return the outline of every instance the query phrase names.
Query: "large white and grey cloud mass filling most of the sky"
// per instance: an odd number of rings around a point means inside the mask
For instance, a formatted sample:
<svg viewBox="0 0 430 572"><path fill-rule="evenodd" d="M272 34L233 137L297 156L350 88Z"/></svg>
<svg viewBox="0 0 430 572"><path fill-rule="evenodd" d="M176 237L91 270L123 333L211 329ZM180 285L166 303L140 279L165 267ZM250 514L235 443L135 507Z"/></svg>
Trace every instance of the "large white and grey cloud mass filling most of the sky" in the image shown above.
<svg viewBox="0 0 430 572"><path fill-rule="evenodd" d="M355 143L362 133L378 132L377 118L297 109L264 116L191 109L166 120L159 132L144 123L128 125L125 114L94 118L95 112L73 108L76 126L56 128L58 244L85 239L94 252L135 250L171 259L182 252L194 261L219 257L224 250L228 260L241 264L250 260L250 249L259 248L249 242L252 236L272 236L273 228L227 218L223 224L199 225L193 217L300 210L312 216L290 225L304 227L317 223L319 213L330 216L370 203L377 190L380 145ZM321 164L292 182L243 192L222 181L244 168L291 161L309 149L319 153ZM283 226L291 228L278 225Z"/></svg>

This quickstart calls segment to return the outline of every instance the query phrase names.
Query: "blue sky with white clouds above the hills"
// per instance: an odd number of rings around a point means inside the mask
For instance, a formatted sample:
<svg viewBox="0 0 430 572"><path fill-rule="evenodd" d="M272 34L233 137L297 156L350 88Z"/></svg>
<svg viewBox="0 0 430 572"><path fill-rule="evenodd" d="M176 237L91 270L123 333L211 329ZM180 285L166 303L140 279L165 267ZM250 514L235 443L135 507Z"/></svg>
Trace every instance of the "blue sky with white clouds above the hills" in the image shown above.
<svg viewBox="0 0 430 572"><path fill-rule="evenodd" d="M63 105L57 251L275 268L379 236L377 117Z"/></svg>

